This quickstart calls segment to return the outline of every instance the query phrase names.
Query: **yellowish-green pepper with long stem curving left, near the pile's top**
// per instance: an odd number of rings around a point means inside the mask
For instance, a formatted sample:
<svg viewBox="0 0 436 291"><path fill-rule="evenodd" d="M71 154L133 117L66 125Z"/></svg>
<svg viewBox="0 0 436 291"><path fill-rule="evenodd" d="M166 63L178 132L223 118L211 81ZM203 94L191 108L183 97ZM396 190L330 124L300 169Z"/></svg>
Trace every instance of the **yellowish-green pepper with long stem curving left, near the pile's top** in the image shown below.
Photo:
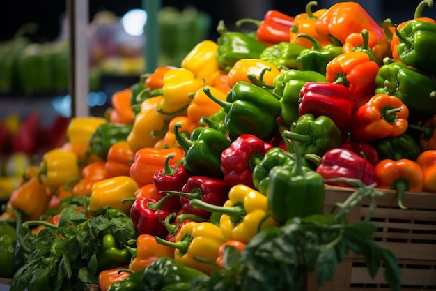
<svg viewBox="0 0 436 291"><path fill-rule="evenodd" d="M306 38L312 43L311 48L306 48L296 59L298 70L313 70L325 75L326 66L339 54L342 54L342 46L334 43L322 47L320 42L306 33L299 33L297 38Z"/></svg>

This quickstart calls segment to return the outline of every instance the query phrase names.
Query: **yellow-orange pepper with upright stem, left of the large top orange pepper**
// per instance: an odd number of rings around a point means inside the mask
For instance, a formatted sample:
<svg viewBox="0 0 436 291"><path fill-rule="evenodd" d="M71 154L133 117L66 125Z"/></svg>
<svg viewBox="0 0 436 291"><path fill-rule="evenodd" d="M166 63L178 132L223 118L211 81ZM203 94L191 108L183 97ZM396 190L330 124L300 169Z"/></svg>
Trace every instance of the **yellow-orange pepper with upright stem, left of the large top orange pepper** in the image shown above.
<svg viewBox="0 0 436 291"><path fill-rule="evenodd" d="M304 13L299 13L295 16L294 25L290 28L290 43L296 43L304 47L310 48L312 46L309 40L304 38L297 38L300 33L308 34L312 36L322 45L328 45L332 43L332 38L326 35L322 35L316 31L316 22L318 17L327 12L327 9L319 9L312 12L312 7L317 6L317 1L309 1L306 4L306 9Z"/></svg>

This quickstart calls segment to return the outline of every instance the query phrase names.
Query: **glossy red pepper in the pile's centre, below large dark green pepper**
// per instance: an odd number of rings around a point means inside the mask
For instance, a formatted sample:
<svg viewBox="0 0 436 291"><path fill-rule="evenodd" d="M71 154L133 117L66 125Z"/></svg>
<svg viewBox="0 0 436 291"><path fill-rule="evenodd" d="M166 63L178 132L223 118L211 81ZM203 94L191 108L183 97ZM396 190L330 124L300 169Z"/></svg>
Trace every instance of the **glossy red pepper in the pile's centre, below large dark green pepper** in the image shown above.
<svg viewBox="0 0 436 291"><path fill-rule="evenodd" d="M228 186L244 184L253 188L254 167L270 149L272 149L271 144L263 142L255 135L240 135L221 153L224 182Z"/></svg>

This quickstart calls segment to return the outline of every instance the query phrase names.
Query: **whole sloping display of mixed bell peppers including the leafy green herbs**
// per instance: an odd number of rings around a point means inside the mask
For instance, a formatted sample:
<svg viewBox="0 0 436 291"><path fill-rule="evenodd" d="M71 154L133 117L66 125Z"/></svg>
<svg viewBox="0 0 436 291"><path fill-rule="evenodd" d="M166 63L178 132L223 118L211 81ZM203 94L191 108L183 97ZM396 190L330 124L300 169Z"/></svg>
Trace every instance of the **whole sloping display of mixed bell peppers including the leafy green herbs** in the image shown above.
<svg viewBox="0 0 436 291"><path fill-rule="evenodd" d="M370 219L387 189L405 215L406 191L436 195L433 1L382 25L317 4L219 22L104 117L72 117L3 208L10 290L307 290L350 252L400 290ZM329 186L352 192L324 211Z"/></svg>

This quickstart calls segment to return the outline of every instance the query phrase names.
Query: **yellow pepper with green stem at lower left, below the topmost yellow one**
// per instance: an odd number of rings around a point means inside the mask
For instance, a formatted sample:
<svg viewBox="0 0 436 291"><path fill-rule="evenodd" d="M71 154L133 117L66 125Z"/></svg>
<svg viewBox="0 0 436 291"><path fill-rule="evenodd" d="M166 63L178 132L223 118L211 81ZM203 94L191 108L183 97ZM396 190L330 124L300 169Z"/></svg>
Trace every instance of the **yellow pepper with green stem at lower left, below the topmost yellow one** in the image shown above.
<svg viewBox="0 0 436 291"><path fill-rule="evenodd" d="M164 75L162 102L157 111L162 114L177 115L185 112L192 96L203 87L203 80L196 78L191 70L175 68Z"/></svg>

